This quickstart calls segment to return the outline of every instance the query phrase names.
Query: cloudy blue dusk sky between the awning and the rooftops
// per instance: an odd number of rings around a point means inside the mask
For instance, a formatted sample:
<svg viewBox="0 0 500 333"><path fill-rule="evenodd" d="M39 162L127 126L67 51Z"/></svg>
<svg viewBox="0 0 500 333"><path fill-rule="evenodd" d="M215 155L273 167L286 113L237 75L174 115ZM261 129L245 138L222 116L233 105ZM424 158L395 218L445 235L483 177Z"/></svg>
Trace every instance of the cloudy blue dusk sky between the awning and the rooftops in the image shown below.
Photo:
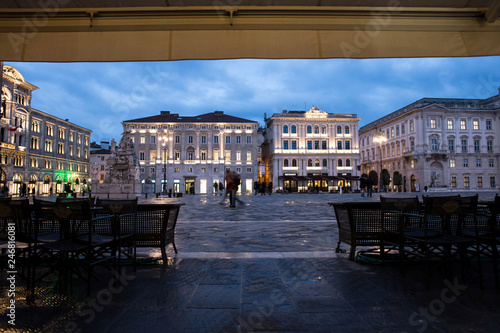
<svg viewBox="0 0 500 333"><path fill-rule="evenodd" d="M264 114L317 105L360 126L424 97L498 93L500 57L13 63L39 89L32 107L116 139L121 122L162 110L215 110L263 124Z"/></svg>

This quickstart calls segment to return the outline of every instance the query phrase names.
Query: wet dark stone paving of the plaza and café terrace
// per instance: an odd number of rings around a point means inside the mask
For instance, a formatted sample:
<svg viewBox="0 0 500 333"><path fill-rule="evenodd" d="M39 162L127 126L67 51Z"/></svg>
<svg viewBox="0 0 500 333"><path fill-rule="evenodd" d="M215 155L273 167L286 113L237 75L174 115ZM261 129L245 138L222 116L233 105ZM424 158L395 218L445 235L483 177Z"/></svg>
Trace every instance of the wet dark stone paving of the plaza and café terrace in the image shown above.
<svg viewBox="0 0 500 333"><path fill-rule="evenodd" d="M408 195L408 194L389 194ZM480 199L494 193L480 193ZM447 280L437 272L427 290L423 265L353 262L335 253L338 231L328 202L378 201L359 194L185 196L169 262L141 249L134 272L99 271L90 297L37 289L35 305L19 281L16 326L7 324L2 271L1 332L500 332L500 293L491 263L476 275ZM154 200L154 199L153 199ZM165 199L162 199L165 200ZM168 199L167 199L168 200ZM348 250L347 245L341 246Z"/></svg>

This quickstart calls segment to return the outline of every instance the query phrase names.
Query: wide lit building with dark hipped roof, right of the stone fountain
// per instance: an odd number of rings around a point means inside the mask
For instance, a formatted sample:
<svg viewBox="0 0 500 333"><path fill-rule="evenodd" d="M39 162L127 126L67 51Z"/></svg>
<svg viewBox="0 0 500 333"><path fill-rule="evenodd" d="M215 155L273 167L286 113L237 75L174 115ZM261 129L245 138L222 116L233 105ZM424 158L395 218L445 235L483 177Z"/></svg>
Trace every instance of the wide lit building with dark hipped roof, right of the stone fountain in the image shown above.
<svg viewBox="0 0 500 333"><path fill-rule="evenodd" d="M239 192L257 180L258 123L215 111L179 116L170 111L122 122L134 142L141 181L153 192L209 194L225 170L241 176Z"/></svg>

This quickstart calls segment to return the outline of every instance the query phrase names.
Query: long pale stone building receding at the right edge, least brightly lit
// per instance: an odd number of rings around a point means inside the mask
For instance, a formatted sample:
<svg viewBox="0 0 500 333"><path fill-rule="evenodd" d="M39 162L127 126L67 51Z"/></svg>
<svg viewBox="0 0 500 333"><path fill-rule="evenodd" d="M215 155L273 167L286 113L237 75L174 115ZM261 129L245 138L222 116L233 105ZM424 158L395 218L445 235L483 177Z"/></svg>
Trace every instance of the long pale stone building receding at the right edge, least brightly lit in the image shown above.
<svg viewBox="0 0 500 333"><path fill-rule="evenodd" d="M498 190L500 90L487 99L423 98L360 128L361 171L390 191ZM387 141L374 142L382 133ZM402 184L394 184L394 173Z"/></svg>

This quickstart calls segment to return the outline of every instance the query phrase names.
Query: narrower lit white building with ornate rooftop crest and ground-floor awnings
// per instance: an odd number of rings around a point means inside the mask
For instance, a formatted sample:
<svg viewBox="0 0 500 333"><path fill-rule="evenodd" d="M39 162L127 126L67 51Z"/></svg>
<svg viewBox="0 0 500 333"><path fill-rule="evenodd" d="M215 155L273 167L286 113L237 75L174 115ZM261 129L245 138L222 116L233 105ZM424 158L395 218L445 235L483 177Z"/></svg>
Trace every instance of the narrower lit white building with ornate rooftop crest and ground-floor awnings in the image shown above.
<svg viewBox="0 0 500 333"><path fill-rule="evenodd" d="M355 114L313 106L267 118L263 144L266 181L277 191L351 191L359 178Z"/></svg>

